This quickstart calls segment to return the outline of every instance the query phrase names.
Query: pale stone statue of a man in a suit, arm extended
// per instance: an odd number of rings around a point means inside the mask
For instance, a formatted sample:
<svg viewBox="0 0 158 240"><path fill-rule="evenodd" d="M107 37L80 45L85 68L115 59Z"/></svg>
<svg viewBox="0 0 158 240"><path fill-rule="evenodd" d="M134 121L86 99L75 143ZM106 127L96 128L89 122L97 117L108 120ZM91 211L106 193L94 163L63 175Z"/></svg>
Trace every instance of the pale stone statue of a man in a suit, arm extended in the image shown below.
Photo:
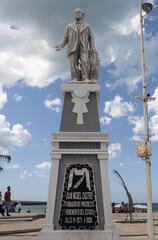
<svg viewBox="0 0 158 240"><path fill-rule="evenodd" d="M67 25L61 42L55 48L59 51L68 43L67 56L70 59L71 78L74 83L96 83L100 60L91 28L82 22L84 15L81 9L75 9L75 22Z"/></svg>

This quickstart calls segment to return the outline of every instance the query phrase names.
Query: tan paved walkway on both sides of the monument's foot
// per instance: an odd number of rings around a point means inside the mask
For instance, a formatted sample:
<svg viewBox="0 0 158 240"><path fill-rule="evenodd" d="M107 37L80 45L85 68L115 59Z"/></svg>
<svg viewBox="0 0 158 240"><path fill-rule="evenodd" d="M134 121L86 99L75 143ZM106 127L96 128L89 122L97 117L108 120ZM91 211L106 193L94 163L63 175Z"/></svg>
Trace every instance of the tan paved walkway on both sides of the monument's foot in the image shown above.
<svg viewBox="0 0 158 240"><path fill-rule="evenodd" d="M12 217L0 217L0 240L38 240L38 232L44 223L43 215L12 214ZM124 215L114 214L113 219L120 234L120 240L146 240L147 223L124 224ZM135 215L135 219L146 219L146 215ZM158 240L158 214L154 216L154 239Z"/></svg>

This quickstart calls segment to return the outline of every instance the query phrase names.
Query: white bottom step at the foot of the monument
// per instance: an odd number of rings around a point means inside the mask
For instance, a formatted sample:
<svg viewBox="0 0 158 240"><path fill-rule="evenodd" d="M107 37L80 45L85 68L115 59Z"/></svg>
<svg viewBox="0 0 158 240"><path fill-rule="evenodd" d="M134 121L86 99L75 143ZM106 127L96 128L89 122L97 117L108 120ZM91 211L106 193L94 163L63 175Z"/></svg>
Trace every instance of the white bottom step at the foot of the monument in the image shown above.
<svg viewBox="0 0 158 240"><path fill-rule="evenodd" d="M118 240L116 230L104 231L47 231L39 233L39 240Z"/></svg>

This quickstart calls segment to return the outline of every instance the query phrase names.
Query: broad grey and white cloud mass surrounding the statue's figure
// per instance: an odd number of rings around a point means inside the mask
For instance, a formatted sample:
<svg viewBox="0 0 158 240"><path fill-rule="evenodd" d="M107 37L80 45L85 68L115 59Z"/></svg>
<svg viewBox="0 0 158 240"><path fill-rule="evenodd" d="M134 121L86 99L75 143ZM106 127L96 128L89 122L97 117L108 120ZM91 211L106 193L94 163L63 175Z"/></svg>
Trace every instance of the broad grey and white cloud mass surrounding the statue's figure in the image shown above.
<svg viewBox="0 0 158 240"><path fill-rule="evenodd" d="M37 10L37 4L39 6ZM59 6L62 4L62 10ZM121 5L121 9L120 9ZM88 9L85 22L90 23L99 52L101 65L115 77L114 85L126 85L129 91L138 87L141 75L139 8L138 1L113 0L96 5L92 1L80 1L80 7ZM115 8L113 7L115 6ZM45 87L61 78L70 78L66 49L60 52L54 46L60 42L68 23L73 21L76 1L42 0L1 1L0 10L0 79L5 86L13 86L19 80L29 86ZM119 11L118 11L119 9ZM97 21L94 15L97 16ZM157 73L158 36L145 39L148 44L148 74ZM152 46L152 47L151 47ZM151 61L154 59L154 61ZM110 71L110 66L114 69ZM137 79L137 81L134 81Z"/></svg>

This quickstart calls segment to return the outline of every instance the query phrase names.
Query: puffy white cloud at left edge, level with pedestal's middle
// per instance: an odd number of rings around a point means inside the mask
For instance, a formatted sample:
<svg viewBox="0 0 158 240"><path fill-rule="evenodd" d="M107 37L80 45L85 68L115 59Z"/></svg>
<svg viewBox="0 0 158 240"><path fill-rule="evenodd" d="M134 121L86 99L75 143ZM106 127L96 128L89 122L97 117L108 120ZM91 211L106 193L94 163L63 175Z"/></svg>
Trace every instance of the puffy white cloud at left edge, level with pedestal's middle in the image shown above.
<svg viewBox="0 0 158 240"><path fill-rule="evenodd" d="M30 138L31 134L22 125L16 124L11 128L5 116L0 114L0 146L4 152L8 152L11 146L26 146Z"/></svg>

